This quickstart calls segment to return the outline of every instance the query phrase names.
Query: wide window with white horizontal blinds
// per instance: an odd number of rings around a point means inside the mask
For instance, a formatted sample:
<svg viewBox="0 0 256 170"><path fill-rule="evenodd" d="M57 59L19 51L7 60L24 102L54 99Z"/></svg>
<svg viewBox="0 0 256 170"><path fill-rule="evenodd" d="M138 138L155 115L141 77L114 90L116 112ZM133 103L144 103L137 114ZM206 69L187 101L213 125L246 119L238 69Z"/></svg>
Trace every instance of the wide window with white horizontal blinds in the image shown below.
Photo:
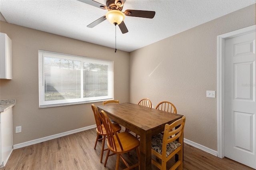
<svg viewBox="0 0 256 170"><path fill-rule="evenodd" d="M38 51L39 107L113 99L113 61Z"/></svg>

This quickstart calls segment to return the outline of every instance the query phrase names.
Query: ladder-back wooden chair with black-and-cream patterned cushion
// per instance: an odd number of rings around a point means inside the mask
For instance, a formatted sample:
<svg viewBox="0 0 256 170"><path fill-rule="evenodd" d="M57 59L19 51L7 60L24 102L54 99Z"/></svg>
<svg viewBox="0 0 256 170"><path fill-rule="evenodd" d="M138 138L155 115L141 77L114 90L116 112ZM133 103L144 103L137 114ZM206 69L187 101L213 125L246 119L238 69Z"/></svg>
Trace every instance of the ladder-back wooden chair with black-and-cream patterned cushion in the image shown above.
<svg viewBox="0 0 256 170"><path fill-rule="evenodd" d="M178 119L171 125L166 124L164 127L164 135L159 133L152 137L151 152L156 156L156 158L162 160L161 163L158 163L152 158L152 164L160 170L166 170L167 161L175 154L178 154L178 161L170 168L170 170L175 170L177 167L179 170L182 170L183 132L185 121L186 117L183 116L182 119ZM175 127L178 128L170 131L170 129Z"/></svg>

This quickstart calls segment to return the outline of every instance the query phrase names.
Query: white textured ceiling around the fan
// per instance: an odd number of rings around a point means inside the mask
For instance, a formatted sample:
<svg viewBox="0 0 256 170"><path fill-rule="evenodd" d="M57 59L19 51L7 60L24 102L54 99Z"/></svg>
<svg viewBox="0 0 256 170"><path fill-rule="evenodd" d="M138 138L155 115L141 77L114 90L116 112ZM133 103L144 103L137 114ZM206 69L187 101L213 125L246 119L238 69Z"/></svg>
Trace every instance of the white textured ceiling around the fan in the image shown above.
<svg viewBox="0 0 256 170"><path fill-rule="evenodd" d="M95 0L106 4L106 0ZM128 33L116 27L117 49L134 51L251 4L256 0L126 0L123 12L156 11L153 19L126 16ZM60 36L115 48L115 26L107 20L86 26L107 10L77 0L0 0L1 20Z"/></svg>

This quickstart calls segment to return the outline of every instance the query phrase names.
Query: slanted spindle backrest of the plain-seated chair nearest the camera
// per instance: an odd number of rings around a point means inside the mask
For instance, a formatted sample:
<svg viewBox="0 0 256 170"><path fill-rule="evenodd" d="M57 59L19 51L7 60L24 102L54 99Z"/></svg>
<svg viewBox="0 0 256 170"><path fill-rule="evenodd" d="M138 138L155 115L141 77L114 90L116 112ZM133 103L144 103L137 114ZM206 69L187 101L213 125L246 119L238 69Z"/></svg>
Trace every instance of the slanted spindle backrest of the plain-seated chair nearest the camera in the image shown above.
<svg viewBox="0 0 256 170"><path fill-rule="evenodd" d="M101 111L101 116L102 116L102 122L103 122L104 128L106 129L109 147L111 147L112 150L116 150L116 145L119 144L120 148L123 150L123 146L120 142L120 139L117 135L116 130L114 130L113 124L108 118L108 115L104 111ZM118 141L118 143L115 142L114 136Z"/></svg>

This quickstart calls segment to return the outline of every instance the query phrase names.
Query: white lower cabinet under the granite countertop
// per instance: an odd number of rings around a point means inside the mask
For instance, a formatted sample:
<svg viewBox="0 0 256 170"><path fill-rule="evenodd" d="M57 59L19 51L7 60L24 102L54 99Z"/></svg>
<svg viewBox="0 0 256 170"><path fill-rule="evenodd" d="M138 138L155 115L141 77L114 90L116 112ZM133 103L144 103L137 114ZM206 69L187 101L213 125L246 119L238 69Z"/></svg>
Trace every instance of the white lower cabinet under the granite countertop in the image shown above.
<svg viewBox="0 0 256 170"><path fill-rule="evenodd" d="M12 108L10 108L0 113L0 168L5 166L12 150Z"/></svg>

